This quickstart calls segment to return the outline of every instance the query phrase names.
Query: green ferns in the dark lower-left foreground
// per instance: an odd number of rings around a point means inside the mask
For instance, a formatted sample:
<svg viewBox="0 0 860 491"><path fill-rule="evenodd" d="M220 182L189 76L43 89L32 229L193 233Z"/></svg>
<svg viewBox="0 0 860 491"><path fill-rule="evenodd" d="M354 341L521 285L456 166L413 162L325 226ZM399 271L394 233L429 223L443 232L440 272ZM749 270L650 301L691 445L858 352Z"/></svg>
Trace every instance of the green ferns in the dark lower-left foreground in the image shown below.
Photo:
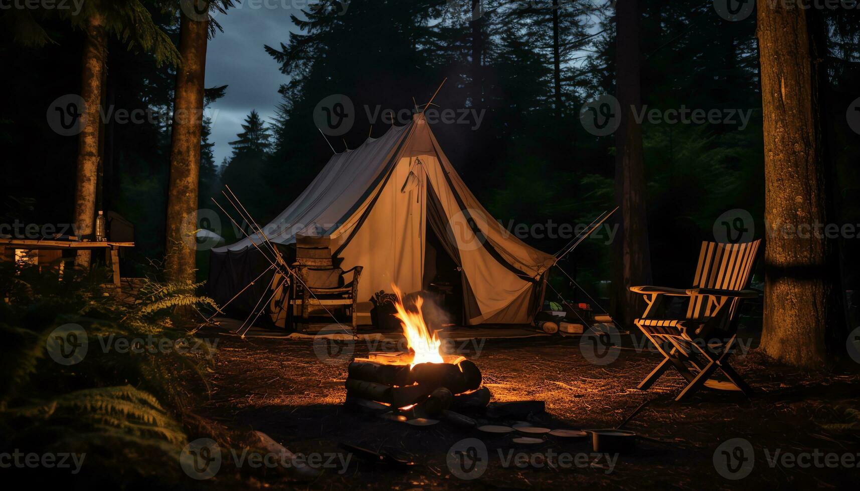
<svg viewBox="0 0 860 491"><path fill-rule="evenodd" d="M114 469L131 455L175 462L187 440L182 421L196 418L190 394L207 390L204 367L212 352L175 327L187 324L173 310L217 306L196 294L201 284L144 279L121 294L101 286L106 277L107 271L70 268L59 278L51 269L0 263L3 441L98 450ZM46 356L49 335L67 323L87 336L86 356L74 365Z"/></svg>

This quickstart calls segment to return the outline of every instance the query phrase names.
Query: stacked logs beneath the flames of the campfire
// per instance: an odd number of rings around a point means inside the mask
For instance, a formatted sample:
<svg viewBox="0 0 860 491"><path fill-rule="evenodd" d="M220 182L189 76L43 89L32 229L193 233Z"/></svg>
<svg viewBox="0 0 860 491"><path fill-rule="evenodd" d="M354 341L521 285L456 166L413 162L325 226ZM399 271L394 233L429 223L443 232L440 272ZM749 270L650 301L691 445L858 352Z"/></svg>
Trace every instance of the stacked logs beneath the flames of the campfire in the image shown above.
<svg viewBox="0 0 860 491"><path fill-rule="evenodd" d="M489 391L479 390L481 371L470 360L445 357L445 363L410 368L411 358L409 353L371 353L366 359L354 359L345 383L347 404L382 402L395 411L419 406L425 414L437 415L452 405L486 406L489 402Z"/></svg>

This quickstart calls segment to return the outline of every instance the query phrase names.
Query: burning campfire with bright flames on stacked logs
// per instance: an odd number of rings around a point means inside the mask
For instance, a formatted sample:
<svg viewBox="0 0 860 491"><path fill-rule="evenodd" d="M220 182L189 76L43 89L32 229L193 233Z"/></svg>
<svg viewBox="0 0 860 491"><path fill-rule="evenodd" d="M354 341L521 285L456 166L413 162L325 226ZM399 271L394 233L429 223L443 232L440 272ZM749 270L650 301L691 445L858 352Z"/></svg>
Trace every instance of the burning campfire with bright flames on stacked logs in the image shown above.
<svg viewBox="0 0 860 491"><path fill-rule="evenodd" d="M452 404L485 406L489 394L479 390L482 377L477 365L442 353L439 334L424 321L423 299L416 297L410 309L402 292L392 287L395 316L402 324L408 352L369 353L367 358L353 359L346 381L347 404L383 404L395 414L418 417L441 414Z"/></svg>

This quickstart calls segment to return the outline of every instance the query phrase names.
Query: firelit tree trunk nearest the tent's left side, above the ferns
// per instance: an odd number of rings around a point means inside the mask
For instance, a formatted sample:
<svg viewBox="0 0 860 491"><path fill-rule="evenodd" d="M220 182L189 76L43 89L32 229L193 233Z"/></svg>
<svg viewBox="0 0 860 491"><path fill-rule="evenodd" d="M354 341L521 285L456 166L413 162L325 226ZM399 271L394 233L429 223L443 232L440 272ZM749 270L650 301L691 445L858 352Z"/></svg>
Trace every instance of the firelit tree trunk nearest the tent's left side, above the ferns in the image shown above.
<svg viewBox="0 0 860 491"><path fill-rule="evenodd" d="M194 281L196 270L197 194L200 136L203 131L203 83L206 71L208 19L181 15L174 118L167 199L166 273L175 281Z"/></svg>

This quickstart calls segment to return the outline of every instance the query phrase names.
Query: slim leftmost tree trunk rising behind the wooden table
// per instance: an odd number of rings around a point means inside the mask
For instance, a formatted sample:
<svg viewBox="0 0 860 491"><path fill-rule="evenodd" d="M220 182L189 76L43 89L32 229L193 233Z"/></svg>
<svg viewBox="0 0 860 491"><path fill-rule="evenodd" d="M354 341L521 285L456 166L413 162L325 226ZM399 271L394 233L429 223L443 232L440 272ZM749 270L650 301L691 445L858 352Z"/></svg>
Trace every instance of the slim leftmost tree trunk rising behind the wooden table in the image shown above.
<svg viewBox="0 0 860 491"><path fill-rule="evenodd" d="M77 236L92 240L95 223L95 190L99 168L101 86L107 57L107 34L101 15L90 15L85 27L81 73L82 127L77 148L75 180L75 227ZM77 251L75 263L89 267L90 252Z"/></svg>

